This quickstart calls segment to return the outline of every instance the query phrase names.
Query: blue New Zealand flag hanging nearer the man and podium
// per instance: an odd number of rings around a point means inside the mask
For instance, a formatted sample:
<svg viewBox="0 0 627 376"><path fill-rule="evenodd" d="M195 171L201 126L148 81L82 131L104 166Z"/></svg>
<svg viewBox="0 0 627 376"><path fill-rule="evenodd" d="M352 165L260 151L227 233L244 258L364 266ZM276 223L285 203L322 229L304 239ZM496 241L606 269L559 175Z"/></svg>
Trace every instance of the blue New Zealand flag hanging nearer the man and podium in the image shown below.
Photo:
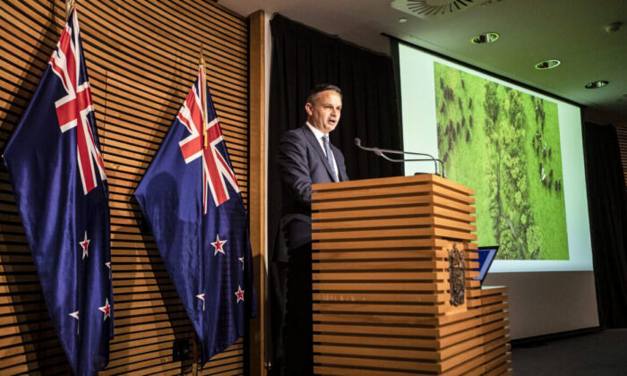
<svg viewBox="0 0 627 376"><path fill-rule="evenodd" d="M135 197L202 345L202 363L244 335L253 262L236 175L202 65Z"/></svg>

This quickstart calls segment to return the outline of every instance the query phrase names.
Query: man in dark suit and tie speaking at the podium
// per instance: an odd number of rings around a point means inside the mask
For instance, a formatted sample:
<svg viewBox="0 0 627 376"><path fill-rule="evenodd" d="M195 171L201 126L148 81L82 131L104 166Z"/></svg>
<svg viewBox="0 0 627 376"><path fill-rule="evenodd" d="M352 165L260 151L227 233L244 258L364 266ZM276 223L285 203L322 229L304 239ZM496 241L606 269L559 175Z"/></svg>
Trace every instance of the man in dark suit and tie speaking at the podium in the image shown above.
<svg viewBox="0 0 627 376"><path fill-rule="evenodd" d="M313 372L311 193L312 184L348 180L344 156L329 141L341 109L337 86L316 85L305 104L306 124L279 142L283 205L271 264L271 374Z"/></svg>

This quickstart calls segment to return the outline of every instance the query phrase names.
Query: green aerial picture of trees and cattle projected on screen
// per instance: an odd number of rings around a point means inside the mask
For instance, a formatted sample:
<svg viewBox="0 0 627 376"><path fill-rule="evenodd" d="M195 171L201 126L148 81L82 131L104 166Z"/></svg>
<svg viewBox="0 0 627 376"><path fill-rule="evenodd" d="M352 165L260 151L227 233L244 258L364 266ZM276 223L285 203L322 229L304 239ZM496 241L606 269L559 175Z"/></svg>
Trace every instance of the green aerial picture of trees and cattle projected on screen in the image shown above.
<svg viewBox="0 0 627 376"><path fill-rule="evenodd" d="M557 104L434 62L438 155L475 190L477 241L504 260L569 260Z"/></svg>

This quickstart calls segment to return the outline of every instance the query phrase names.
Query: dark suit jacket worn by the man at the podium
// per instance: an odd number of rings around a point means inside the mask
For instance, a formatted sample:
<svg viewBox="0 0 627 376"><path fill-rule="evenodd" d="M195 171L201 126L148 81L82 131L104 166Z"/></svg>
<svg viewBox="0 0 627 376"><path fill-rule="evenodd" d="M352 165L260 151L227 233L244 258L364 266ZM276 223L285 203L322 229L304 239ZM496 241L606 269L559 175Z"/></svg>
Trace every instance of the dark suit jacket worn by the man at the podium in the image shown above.
<svg viewBox="0 0 627 376"><path fill-rule="evenodd" d="M344 156L331 145L338 165L339 181L348 180ZM311 242L312 184L333 181L331 166L320 142L307 125L285 132L279 141L279 175L282 208L279 223L279 244L274 261L288 261L288 249Z"/></svg>

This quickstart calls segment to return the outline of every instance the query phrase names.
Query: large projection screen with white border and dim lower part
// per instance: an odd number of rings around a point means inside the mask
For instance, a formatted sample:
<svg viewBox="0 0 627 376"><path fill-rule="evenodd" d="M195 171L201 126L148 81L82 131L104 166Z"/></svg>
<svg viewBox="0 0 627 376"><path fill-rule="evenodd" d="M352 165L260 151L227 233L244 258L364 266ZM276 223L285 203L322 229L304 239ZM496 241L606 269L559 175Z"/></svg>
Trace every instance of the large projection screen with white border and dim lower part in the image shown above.
<svg viewBox="0 0 627 376"><path fill-rule="evenodd" d="M392 43L403 149L442 159L448 179L475 190L477 244L500 246L486 281L510 287L512 338L597 326L580 107ZM433 172L405 164L406 175ZM542 290L535 302L526 288ZM529 309L577 317L522 325Z"/></svg>

